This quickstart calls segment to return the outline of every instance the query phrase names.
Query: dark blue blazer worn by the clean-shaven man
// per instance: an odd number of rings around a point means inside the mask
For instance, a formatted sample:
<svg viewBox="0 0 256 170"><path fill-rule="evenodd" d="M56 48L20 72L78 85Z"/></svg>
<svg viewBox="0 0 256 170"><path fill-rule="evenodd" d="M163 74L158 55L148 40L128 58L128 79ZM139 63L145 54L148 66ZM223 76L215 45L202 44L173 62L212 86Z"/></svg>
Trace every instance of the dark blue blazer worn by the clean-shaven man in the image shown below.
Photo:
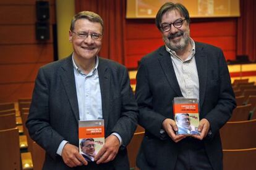
<svg viewBox="0 0 256 170"><path fill-rule="evenodd" d="M122 137L121 148L110 164L129 169L126 146L137 126L138 112L129 75L123 65L101 57L98 75L105 137L113 132ZM32 139L46 150L43 169L72 169L56 152L62 140L79 147L78 121L74 67L69 56L41 67L35 81L27 127Z"/></svg>

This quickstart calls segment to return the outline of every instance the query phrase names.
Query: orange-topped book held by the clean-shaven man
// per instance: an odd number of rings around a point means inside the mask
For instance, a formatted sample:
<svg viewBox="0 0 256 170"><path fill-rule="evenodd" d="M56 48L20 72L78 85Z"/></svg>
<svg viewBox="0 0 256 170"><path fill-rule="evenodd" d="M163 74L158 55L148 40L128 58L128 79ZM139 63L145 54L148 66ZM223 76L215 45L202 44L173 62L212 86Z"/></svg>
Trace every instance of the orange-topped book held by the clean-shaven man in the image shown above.
<svg viewBox="0 0 256 170"><path fill-rule="evenodd" d="M79 121L79 152L88 162L94 161L95 155L105 144L104 120Z"/></svg>

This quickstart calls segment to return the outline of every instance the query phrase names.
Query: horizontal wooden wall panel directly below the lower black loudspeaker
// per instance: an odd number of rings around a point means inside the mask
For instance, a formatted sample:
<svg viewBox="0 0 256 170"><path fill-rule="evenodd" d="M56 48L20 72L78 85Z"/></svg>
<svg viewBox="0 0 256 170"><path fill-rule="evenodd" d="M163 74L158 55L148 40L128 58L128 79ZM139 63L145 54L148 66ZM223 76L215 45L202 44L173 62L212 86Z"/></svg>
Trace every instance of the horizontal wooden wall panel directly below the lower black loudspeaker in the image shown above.
<svg viewBox="0 0 256 170"><path fill-rule="evenodd" d="M53 61L53 44L0 45L0 51L1 65Z"/></svg>

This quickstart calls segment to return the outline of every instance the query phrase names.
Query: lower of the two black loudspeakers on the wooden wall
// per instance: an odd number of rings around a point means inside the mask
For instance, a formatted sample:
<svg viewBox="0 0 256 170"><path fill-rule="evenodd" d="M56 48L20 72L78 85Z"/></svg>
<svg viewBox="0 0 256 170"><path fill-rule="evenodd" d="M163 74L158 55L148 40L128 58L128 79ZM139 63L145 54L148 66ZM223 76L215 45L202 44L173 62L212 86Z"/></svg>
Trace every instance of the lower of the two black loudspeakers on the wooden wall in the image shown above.
<svg viewBox="0 0 256 170"><path fill-rule="evenodd" d="M36 22L36 39L45 40L49 39L49 23Z"/></svg>

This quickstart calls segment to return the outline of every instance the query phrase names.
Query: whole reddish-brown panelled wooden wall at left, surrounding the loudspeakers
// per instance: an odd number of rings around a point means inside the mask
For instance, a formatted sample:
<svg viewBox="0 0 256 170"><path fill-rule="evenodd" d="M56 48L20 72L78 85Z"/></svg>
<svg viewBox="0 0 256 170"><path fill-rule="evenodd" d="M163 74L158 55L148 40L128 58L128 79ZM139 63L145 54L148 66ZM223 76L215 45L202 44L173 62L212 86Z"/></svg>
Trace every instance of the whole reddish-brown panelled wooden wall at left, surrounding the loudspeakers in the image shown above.
<svg viewBox="0 0 256 170"><path fill-rule="evenodd" d="M0 102L32 97L38 68L54 59L55 0L49 1L48 41L36 40L36 1L0 1Z"/></svg>

